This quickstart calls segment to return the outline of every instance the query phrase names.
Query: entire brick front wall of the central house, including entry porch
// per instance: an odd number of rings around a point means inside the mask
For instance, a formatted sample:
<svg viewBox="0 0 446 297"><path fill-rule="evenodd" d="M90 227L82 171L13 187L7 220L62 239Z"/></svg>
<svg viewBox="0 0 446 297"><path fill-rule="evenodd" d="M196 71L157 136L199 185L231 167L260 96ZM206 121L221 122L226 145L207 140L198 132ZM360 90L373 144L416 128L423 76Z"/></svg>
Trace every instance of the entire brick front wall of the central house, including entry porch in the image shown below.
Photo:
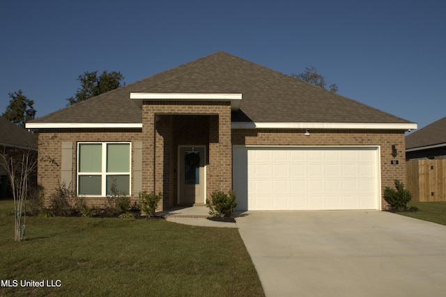
<svg viewBox="0 0 446 297"><path fill-rule="evenodd" d="M142 142L142 190L162 192L158 210L178 203L178 145L206 146L206 197L232 188L232 145L379 145L382 194L394 179L406 180L403 131L233 129L229 102L144 102L142 129L45 129L38 134L38 182L45 195L61 182L62 143L72 142L72 186L76 188L77 142ZM396 145L398 156L392 156ZM132 145L132 170L134 168ZM391 165L396 159L399 165ZM132 175L132 193L133 193ZM137 198L133 198L136 200ZM86 198L102 206L104 198ZM383 209L387 203L382 199Z"/></svg>

